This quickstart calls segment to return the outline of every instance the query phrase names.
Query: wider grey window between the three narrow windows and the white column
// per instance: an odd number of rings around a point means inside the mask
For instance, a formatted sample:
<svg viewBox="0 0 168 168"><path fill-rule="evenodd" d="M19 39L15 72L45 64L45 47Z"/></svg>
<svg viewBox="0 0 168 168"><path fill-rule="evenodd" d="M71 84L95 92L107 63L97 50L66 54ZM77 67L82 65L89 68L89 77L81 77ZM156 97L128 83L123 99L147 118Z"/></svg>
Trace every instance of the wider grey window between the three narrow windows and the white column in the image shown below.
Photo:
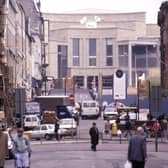
<svg viewBox="0 0 168 168"><path fill-rule="evenodd" d="M119 66L127 68L128 67L128 45L119 45L118 54L119 54Z"/></svg>

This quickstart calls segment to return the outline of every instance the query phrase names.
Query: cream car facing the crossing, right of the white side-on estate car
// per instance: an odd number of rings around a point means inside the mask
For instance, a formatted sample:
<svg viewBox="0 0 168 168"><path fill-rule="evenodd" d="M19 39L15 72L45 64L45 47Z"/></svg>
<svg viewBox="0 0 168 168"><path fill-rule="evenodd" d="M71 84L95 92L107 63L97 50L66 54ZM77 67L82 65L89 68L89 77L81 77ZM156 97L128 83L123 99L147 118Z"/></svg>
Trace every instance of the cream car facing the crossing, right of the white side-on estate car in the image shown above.
<svg viewBox="0 0 168 168"><path fill-rule="evenodd" d="M62 136L77 135L77 122L73 118L65 118L59 121L58 134Z"/></svg>

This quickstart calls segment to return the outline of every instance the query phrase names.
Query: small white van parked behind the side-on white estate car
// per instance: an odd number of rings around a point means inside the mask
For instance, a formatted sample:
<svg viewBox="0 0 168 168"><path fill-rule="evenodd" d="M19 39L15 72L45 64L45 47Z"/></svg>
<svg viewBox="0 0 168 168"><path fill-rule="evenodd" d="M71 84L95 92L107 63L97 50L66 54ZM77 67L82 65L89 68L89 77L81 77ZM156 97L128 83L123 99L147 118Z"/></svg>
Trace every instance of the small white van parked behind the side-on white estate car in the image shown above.
<svg viewBox="0 0 168 168"><path fill-rule="evenodd" d="M40 119L37 115L25 115L24 128L33 129L40 125Z"/></svg>

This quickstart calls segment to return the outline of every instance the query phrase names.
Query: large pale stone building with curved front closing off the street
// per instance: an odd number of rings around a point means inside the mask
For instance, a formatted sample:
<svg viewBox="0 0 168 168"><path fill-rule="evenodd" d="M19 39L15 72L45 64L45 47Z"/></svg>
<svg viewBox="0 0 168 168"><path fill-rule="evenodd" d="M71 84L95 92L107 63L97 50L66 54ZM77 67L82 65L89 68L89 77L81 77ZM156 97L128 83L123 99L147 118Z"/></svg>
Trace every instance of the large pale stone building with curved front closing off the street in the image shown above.
<svg viewBox="0 0 168 168"><path fill-rule="evenodd" d="M159 77L159 28L146 24L144 12L88 9L43 17L49 76L73 76L85 88L93 81L112 87L118 69L126 73L128 87L135 87L138 73Z"/></svg>

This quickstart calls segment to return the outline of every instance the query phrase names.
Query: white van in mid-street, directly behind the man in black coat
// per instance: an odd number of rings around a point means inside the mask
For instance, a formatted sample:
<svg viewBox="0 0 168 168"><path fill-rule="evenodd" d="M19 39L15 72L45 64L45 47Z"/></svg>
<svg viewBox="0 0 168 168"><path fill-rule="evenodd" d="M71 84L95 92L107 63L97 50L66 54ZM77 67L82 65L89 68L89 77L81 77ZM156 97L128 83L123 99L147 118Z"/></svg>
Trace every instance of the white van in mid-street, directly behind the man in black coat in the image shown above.
<svg viewBox="0 0 168 168"><path fill-rule="evenodd" d="M98 118L99 117L99 105L97 101L89 100L89 101L83 101L82 102L82 111L81 111L81 117L84 118Z"/></svg>

